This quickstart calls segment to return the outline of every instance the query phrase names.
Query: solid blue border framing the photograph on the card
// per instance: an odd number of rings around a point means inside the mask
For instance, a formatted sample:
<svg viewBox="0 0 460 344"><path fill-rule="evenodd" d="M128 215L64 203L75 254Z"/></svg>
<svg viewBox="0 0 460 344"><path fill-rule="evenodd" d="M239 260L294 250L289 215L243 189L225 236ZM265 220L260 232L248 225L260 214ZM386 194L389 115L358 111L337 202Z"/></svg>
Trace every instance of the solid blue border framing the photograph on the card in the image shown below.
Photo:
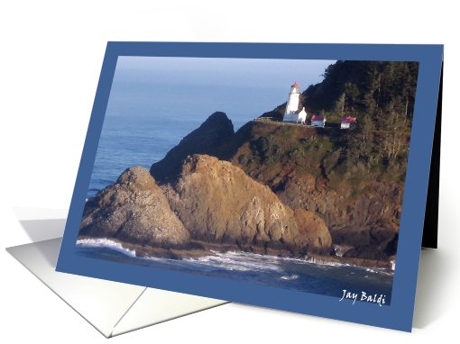
<svg viewBox="0 0 460 344"><path fill-rule="evenodd" d="M420 245L443 50L442 45L108 42L56 270L410 331L419 271ZM131 266L75 255L79 222L87 197L87 187L96 158L97 145L119 56L419 61L419 79L391 305L383 307L373 303L352 305L352 303L339 302L337 298L319 294L301 293L152 267Z"/></svg>

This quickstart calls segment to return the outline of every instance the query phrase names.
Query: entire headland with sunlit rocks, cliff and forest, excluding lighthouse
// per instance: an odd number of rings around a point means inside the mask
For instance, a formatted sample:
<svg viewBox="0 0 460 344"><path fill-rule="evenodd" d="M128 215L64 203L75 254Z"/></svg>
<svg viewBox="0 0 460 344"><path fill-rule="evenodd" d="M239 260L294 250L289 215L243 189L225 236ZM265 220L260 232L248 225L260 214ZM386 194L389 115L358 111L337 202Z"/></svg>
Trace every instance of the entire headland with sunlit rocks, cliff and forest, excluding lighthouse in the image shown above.
<svg viewBox="0 0 460 344"><path fill-rule="evenodd" d="M336 61L299 95L327 128L281 122L286 104L236 132L213 113L150 170L130 167L88 200L80 238L110 238L141 256L243 250L390 267L418 68ZM346 116L354 129L340 129Z"/></svg>

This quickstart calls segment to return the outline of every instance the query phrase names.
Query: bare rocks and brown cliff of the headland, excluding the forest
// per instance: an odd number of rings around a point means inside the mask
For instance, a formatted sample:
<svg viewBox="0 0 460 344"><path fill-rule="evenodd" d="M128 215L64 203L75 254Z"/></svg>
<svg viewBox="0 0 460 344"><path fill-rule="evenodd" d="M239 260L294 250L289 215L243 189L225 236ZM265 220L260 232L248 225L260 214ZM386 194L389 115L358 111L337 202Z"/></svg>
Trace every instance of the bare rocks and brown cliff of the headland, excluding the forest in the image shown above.
<svg viewBox="0 0 460 344"><path fill-rule="evenodd" d="M243 250L389 267L401 188L377 180L332 185L325 157L299 153L313 138L328 140L311 128L265 122L234 132L225 113L213 113L150 171L129 167L89 199L79 237L120 241L140 256Z"/></svg>

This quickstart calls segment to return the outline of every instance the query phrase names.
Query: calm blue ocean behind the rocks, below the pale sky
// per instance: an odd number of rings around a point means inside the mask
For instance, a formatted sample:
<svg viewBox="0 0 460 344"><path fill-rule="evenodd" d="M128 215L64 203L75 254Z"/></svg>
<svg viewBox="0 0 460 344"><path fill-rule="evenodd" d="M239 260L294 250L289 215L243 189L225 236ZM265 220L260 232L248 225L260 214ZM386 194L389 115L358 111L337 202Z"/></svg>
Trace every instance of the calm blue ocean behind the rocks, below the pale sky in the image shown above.
<svg viewBox="0 0 460 344"><path fill-rule="evenodd" d="M216 111L225 112L236 131L244 123L283 102L282 95L280 100L273 100L271 95L277 93L267 89L267 93L261 93L253 87L195 86L189 91L189 87L183 87L179 90L180 87L176 86L174 93L164 85L128 87L122 83L112 91L89 196L114 183L127 167L141 165L150 168L152 163L164 158L184 136L197 129ZM178 93L182 95L179 99ZM212 94L213 99L199 104L196 100L198 95L207 93ZM231 104L230 93L242 103ZM186 94L187 97L184 96ZM250 102L251 95L258 95L258 102ZM259 107L254 103L260 103ZM262 104L272 105L267 107Z"/></svg>

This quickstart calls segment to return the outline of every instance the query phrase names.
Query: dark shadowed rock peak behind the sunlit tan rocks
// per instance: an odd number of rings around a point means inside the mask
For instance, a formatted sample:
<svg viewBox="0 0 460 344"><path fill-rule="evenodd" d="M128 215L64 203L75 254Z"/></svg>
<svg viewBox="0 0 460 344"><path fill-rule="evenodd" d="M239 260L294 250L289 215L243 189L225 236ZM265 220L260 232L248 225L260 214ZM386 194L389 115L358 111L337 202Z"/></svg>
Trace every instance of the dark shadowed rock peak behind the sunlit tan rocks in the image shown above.
<svg viewBox="0 0 460 344"><path fill-rule="evenodd" d="M185 158L192 154L218 156L219 149L234 136L234 125L225 113L211 114L195 131L180 140L179 144L170 149L166 157L154 163L151 174L157 180L171 180L180 172Z"/></svg>

